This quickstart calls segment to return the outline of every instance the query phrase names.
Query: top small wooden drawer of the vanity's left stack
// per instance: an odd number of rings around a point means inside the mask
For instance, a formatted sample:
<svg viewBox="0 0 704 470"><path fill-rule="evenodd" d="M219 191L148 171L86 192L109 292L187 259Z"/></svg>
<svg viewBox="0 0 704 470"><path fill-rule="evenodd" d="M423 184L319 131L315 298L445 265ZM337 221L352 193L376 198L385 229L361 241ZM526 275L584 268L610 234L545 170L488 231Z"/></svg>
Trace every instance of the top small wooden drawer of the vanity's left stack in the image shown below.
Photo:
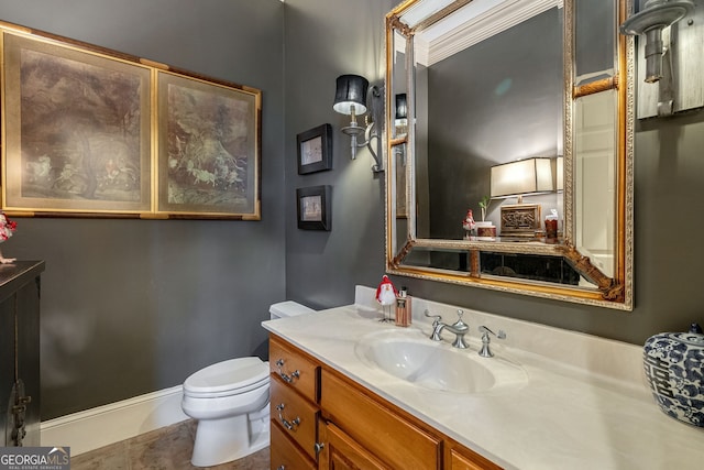
<svg viewBox="0 0 704 470"><path fill-rule="evenodd" d="M270 337L268 345L268 367L272 374L296 389L306 398L317 403L318 365L300 352L287 347L275 336Z"/></svg>

